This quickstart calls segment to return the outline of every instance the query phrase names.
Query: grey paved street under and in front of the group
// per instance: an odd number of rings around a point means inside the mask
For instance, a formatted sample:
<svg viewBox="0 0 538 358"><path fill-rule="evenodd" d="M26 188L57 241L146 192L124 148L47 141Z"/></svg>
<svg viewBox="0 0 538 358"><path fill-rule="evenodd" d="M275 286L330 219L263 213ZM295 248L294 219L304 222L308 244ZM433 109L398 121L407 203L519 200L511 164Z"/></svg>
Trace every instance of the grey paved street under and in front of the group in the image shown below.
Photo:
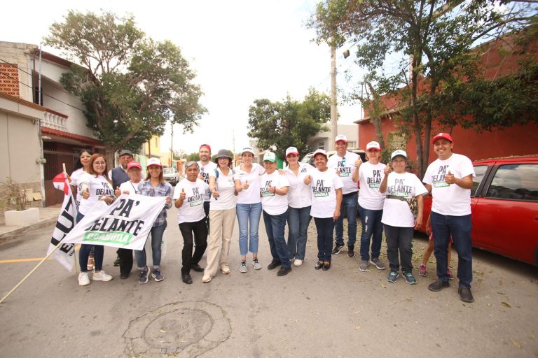
<svg viewBox="0 0 538 358"><path fill-rule="evenodd" d="M76 275L46 262L0 305L0 357L537 357L538 268L474 250L475 303L457 296L457 280L429 292L418 275L427 240L414 241L418 285L387 270L358 269L360 257L333 257L315 271L312 221L307 261L282 278L268 271L263 221L263 269L239 273L237 223L230 275L202 284L181 282L181 234L170 210L162 270L166 280L120 280L105 248L110 282L78 286ZM0 292L14 287L46 254L53 225L0 244ZM358 247L357 247L358 252ZM382 248L385 252L385 246ZM29 260L30 259L30 260ZM385 257L383 259L386 262ZM20 260L20 261L17 261ZM457 255L453 254L453 270ZM200 262L205 266L205 257Z"/></svg>

